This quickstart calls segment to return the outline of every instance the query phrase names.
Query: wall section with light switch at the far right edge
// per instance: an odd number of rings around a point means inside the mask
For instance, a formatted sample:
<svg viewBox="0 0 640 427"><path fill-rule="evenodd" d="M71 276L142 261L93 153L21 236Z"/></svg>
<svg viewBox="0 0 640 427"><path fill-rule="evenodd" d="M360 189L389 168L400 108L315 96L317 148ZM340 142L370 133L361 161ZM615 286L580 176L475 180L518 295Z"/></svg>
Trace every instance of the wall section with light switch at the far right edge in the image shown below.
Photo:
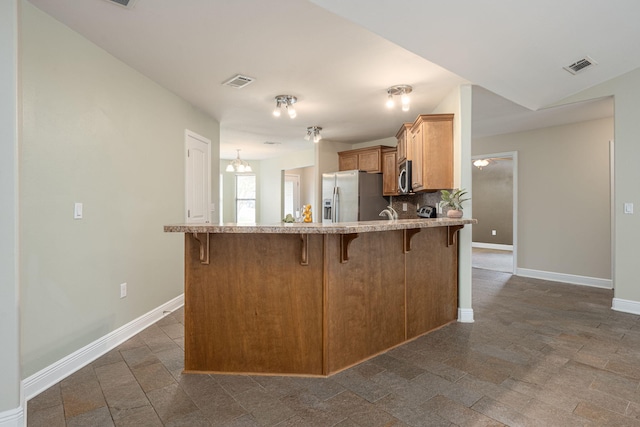
<svg viewBox="0 0 640 427"><path fill-rule="evenodd" d="M609 80L561 103L614 96L615 110L615 168L614 168L614 307L631 304L630 309L640 313L640 286L638 286L638 248L640 246L640 69ZM624 203L634 203L633 215L624 214Z"/></svg>

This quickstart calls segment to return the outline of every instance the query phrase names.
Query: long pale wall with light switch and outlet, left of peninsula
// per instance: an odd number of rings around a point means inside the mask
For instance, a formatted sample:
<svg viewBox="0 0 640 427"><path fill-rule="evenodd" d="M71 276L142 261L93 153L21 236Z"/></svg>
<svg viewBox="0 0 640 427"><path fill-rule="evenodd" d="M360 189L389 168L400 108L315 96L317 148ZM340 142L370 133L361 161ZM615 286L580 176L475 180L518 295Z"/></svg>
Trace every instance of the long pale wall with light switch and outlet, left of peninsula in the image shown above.
<svg viewBox="0 0 640 427"><path fill-rule="evenodd" d="M183 292L183 236L162 227L184 221L185 129L212 141L217 202L219 126L30 3L22 7L27 377ZM74 202L84 203L84 219L73 219Z"/></svg>

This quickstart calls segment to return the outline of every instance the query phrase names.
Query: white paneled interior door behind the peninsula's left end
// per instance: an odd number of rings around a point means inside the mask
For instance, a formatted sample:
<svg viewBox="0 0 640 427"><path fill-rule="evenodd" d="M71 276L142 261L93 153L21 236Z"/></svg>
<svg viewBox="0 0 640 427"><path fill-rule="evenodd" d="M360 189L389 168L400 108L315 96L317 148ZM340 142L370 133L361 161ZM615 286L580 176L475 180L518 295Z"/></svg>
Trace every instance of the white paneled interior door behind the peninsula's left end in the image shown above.
<svg viewBox="0 0 640 427"><path fill-rule="evenodd" d="M209 222L211 182L211 141L191 131L185 132L186 200L185 222Z"/></svg>

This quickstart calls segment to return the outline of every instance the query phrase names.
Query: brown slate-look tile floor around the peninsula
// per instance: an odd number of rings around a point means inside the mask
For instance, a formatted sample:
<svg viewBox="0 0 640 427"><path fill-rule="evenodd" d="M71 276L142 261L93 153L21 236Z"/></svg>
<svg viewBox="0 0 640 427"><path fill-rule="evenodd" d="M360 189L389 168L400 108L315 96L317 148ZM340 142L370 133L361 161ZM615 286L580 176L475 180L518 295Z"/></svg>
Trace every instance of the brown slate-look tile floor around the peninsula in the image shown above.
<svg viewBox="0 0 640 427"><path fill-rule="evenodd" d="M29 426L640 426L640 317L473 270L452 323L331 378L183 375L177 311L28 402Z"/></svg>

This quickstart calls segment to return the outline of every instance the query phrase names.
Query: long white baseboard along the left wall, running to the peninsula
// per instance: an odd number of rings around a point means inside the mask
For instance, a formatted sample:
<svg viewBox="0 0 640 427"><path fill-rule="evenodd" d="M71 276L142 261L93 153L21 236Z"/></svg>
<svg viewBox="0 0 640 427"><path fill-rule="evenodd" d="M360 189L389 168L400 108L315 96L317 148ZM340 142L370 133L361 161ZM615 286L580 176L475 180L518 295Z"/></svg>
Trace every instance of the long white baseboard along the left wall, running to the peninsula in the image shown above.
<svg viewBox="0 0 640 427"><path fill-rule="evenodd" d="M141 332L146 327L154 324L162 317L164 312L174 311L184 305L184 294L178 295L169 302L162 304L150 312L143 314L113 332L95 340L57 362L47 366L39 372L24 379L24 396L26 400L42 393L52 385L60 382L69 375L83 368L98 357L116 348L132 336ZM2 426L2 424L0 424Z"/></svg>

